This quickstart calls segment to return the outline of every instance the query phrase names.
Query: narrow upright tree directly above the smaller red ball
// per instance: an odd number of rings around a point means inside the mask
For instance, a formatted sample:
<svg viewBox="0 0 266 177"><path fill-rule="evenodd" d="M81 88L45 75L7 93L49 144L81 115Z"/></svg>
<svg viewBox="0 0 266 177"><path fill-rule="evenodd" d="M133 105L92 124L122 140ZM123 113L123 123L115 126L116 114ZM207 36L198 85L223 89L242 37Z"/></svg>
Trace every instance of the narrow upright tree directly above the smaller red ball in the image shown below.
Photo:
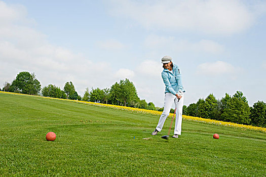
<svg viewBox="0 0 266 177"><path fill-rule="evenodd" d="M215 119L214 115L214 110L215 107L217 106L217 100L213 96L213 94L210 94L206 99L205 99L205 108L206 108L206 117L208 119Z"/></svg>

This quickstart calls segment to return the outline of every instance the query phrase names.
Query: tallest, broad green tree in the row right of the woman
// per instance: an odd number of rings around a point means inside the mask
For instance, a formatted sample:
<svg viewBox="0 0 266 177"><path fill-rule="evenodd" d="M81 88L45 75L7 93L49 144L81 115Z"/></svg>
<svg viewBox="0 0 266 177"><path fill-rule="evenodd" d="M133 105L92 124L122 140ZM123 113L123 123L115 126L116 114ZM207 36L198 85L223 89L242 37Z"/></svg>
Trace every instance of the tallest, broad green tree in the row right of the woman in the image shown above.
<svg viewBox="0 0 266 177"><path fill-rule="evenodd" d="M240 124L249 124L250 108L248 103L245 102L244 97L239 97L239 94L235 94L232 99L227 103L224 109L223 117L224 121L231 121Z"/></svg>

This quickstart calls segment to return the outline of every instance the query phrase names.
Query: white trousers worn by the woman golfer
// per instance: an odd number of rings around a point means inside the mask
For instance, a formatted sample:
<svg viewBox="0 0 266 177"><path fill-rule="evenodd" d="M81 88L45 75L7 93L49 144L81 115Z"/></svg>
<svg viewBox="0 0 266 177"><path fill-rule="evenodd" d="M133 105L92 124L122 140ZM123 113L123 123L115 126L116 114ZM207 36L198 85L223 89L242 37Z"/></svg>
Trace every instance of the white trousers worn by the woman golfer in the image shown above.
<svg viewBox="0 0 266 177"><path fill-rule="evenodd" d="M164 122L165 119L169 116L171 107L173 105L173 102L175 103L175 107L176 107L176 116L175 116L175 130L174 130L174 134L177 135L181 135L181 124L182 124L182 110L183 110L183 103L184 103L184 94L183 97L179 100L175 95L171 94L171 93L166 93L165 94L165 99L164 99L164 111L159 119L158 125L156 127L156 129L158 131L161 131L163 126L164 126Z"/></svg>

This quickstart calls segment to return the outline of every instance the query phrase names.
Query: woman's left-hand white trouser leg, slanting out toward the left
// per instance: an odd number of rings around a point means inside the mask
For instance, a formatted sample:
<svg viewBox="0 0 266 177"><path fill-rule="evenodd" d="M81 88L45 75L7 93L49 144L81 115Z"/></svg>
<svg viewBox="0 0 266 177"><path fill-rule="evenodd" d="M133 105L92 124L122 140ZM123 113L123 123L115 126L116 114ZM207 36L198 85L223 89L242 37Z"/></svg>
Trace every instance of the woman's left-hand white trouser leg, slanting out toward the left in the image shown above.
<svg viewBox="0 0 266 177"><path fill-rule="evenodd" d="M163 111L162 115L160 116L158 125L156 127L156 129L158 131L162 130L162 128L164 126L165 119L169 116L169 113L170 113L170 110L171 110L171 107L173 105L173 101L174 101L175 98L176 98L176 96L171 94L171 93L166 93L165 94L164 111Z"/></svg>

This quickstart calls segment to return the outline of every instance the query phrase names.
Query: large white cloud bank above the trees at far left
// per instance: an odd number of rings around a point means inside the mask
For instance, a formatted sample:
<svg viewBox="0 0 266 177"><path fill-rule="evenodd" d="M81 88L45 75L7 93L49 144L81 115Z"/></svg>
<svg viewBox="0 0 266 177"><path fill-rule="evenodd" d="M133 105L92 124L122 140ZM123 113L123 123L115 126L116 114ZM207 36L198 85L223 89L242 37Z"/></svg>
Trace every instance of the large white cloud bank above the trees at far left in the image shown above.
<svg viewBox="0 0 266 177"><path fill-rule="evenodd" d="M8 20L7 20L8 19ZM110 86L115 72L107 62L92 62L81 54L52 45L46 35L29 27L23 6L0 1L0 81L12 82L21 71L34 72L42 87L72 81L82 95L86 87Z"/></svg>

